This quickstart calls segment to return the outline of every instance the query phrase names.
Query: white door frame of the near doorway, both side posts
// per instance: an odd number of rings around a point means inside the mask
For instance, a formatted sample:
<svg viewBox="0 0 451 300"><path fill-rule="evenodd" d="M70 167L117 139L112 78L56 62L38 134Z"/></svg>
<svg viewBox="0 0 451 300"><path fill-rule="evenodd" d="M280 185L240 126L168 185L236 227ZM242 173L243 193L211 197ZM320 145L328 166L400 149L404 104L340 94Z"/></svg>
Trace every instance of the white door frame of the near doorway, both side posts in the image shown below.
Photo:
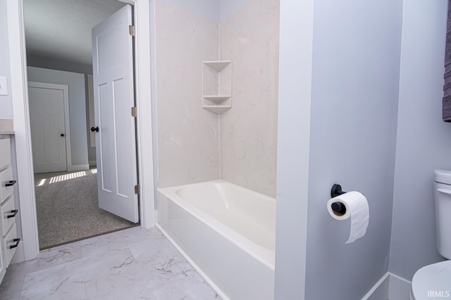
<svg viewBox="0 0 451 300"><path fill-rule="evenodd" d="M133 6L135 18L135 93L137 106L137 157L140 183L140 221L144 228L155 226L154 129L151 92L151 17L149 0L119 0ZM35 259L39 254L35 185L32 164L30 113L28 111L27 56L23 0L6 0L8 48L11 67L13 126L17 159L20 202L20 243L13 262ZM153 66L152 66L153 67ZM145 184L144 184L145 183Z"/></svg>

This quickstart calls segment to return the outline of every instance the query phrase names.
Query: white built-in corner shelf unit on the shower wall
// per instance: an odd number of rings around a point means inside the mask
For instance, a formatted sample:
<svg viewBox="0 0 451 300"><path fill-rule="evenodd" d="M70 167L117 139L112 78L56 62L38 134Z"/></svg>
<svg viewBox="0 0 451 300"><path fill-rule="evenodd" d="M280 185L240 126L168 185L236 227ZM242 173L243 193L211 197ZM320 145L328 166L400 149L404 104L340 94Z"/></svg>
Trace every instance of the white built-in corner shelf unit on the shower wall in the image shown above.
<svg viewBox="0 0 451 300"><path fill-rule="evenodd" d="M232 61L202 63L202 107L217 115L232 108Z"/></svg>

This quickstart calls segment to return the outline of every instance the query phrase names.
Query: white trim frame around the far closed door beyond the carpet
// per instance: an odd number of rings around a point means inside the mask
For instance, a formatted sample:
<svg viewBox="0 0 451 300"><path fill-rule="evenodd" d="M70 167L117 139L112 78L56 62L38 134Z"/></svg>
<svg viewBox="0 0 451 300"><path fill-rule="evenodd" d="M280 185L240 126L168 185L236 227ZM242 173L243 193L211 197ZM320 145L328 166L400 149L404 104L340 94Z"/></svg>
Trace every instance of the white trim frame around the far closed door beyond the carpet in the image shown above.
<svg viewBox="0 0 451 300"><path fill-rule="evenodd" d="M47 84L44 82L28 81L28 89L30 88L56 89L63 91L64 134L66 135L66 171L68 171L72 168L72 152L70 150L69 86L65 84Z"/></svg>

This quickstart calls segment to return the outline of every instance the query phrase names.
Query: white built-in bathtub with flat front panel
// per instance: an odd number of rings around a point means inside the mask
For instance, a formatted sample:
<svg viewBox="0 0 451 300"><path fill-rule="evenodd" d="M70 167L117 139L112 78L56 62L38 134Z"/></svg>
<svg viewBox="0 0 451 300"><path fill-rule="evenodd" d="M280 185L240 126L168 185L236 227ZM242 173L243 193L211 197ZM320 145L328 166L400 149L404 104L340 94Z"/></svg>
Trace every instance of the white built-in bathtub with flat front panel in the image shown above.
<svg viewBox="0 0 451 300"><path fill-rule="evenodd" d="M276 200L227 181L158 189L157 227L223 299L273 299Z"/></svg>

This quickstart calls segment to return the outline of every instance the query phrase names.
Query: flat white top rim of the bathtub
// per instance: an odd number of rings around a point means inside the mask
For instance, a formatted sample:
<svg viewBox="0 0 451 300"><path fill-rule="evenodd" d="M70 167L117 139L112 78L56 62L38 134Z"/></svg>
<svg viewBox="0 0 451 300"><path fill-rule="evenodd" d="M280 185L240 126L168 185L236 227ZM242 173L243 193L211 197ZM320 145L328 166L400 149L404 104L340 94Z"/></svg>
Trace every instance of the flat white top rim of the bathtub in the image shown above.
<svg viewBox="0 0 451 300"><path fill-rule="evenodd" d="M211 181L207 181L211 182ZM215 181L218 182L218 181ZM227 181L221 181L222 183ZM194 183L196 184L196 183ZM233 183L229 183L233 184ZM182 209L185 209L190 214L194 215L202 221L202 223L206 224L206 226L209 226L213 230L216 231L216 233L223 235L223 237L226 237L227 240L235 244L235 246L239 247L243 251L245 251L247 254L254 256L255 259L263 263L266 267L268 267L270 270L275 270L276 266L276 257L275 252L269 249L265 249L264 247L261 247L259 244L256 244L252 241L250 241L247 237L241 235L240 233L237 233L235 230L229 228L228 226L224 225L223 223L217 221L213 217L209 216L208 214L204 213L201 209L198 209L197 207L194 207L194 205L190 204L189 202L183 200L182 197L177 195L175 193L175 190L178 190L178 188L185 186L185 185L179 185L176 187L171 188L158 188L157 190L159 193L163 194L164 196L168 197L169 200L172 200L175 204L178 205L178 207L181 207ZM253 191L252 191L253 192ZM254 192L257 193L257 192ZM266 196L268 197L268 196ZM158 213L158 210L157 210ZM158 219L157 219L158 220ZM158 221L157 221L158 224ZM161 226L160 226L161 227ZM249 252L249 249L254 249L255 252Z"/></svg>

